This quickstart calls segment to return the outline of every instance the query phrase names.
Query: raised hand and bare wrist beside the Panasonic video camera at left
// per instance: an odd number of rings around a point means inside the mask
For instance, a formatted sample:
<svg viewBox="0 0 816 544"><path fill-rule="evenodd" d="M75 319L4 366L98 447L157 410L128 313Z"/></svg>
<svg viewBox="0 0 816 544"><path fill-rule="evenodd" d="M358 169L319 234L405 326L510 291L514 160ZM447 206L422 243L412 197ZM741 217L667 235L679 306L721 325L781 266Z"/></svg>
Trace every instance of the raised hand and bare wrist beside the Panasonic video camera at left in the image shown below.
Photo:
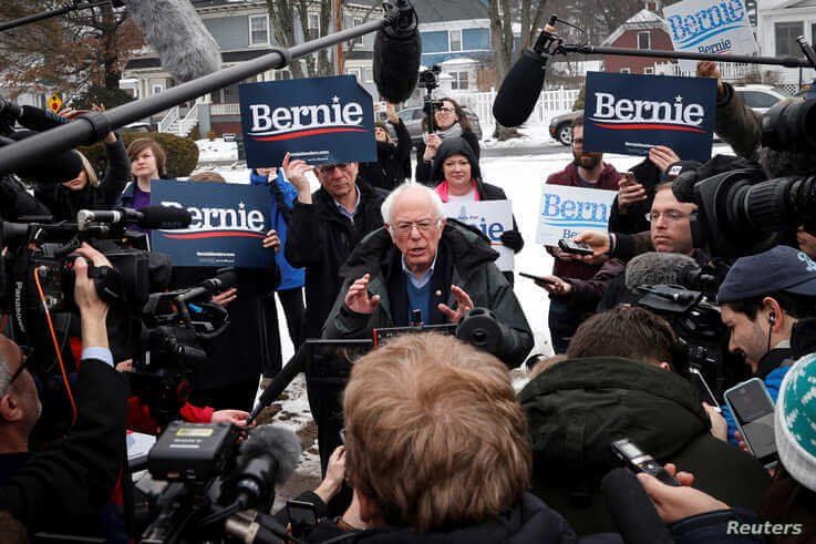
<svg viewBox="0 0 816 544"><path fill-rule="evenodd" d="M105 328L107 305L96 292L93 280L87 277L87 260L96 267L111 266L111 261L84 242L76 253L82 256L74 260L74 300L80 308L82 345L85 348L107 348L107 329Z"/></svg>

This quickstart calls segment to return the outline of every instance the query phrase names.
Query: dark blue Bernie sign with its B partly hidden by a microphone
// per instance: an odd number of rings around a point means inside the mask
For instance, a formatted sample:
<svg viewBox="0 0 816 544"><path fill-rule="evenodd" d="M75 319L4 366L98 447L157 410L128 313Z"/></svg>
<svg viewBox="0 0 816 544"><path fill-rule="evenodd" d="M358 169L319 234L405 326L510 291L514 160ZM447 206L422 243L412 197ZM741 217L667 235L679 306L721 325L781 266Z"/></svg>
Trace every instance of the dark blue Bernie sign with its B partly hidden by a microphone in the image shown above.
<svg viewBox="0 0 816 544"><path fill-rule="evenodd" d="M261 245L271 228L265 186L153 182L151 201L193 215L187 228L151 233L152 249L169 254L173 266L265 268L275 258Z"/></svg>

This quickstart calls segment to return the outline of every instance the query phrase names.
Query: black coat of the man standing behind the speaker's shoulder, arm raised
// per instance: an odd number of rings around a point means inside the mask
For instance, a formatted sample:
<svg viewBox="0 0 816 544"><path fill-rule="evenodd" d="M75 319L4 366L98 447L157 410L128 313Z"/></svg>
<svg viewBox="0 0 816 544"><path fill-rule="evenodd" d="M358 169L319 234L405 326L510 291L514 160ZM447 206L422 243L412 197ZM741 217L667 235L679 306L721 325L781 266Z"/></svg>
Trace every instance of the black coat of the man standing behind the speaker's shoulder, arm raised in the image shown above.
<svg viewBox="0 0 816 544"><path fill-rule="evenodd" d="M363 237L383 224L384 193L358 178L360 208L354 222L342 215L323 188L312 204L295 203L289 220L286 258L306 268L306 337L320 338L326 318L340 292L340 267Z"/></svg>

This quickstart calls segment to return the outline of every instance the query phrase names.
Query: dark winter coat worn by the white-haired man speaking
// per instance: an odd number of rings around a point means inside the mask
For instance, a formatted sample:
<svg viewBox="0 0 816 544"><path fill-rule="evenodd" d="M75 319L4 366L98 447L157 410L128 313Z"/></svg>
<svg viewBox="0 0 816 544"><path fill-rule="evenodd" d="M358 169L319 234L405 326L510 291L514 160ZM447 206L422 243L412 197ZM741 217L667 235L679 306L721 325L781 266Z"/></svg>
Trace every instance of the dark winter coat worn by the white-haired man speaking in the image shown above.
<svg viewBox="0 0 816 544"><path fill-rule="evenodd" d="M430 305L432 315L426 322L447 322L436 305L442 302L455 307L456 299L450 286L461 287L471 296L474 307L493 310L508 328L509 338L505 339L508 350L503 359L505 365L514 368L533 349L533 332L513 288L493 263L497 257L498 254L478 233L450 219L442 233L436 261L437 271L445 267L448 271L435 274L431 279L434 281ZM401 263L401 254L384 228L363 239L340 271L344 283L326 321L324 338L371 338L372 329L406 325L400 320L396 310L400 304L392 297L394 290L391 288L394 283L404 285ZM344 302L351 284L365 274L371 274L369 291L380 295L380 304L371 315L357 314ZM450 277L441 277L443 274L450 274ZM407 306L404 309L406 319Z"/></svg>

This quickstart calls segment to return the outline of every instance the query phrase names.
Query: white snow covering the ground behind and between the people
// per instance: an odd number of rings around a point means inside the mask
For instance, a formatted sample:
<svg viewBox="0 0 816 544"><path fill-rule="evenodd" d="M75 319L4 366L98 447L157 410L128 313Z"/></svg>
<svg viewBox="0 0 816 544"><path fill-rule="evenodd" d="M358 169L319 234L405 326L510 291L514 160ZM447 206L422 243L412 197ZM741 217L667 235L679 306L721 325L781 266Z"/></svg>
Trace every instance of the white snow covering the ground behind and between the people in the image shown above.
<svg viewBox="0 0 816 544"><path fill-rule="evenodd" d="M536 222L543 183L549 174L562 170L571 160L570 152L566 147L562 153L549 155L484 157L479 163L485 182L504 188L513 202L513 212L525 239L524 249L516 255L516 271L540 275L552 270L552 257L536 243ZM717 153L731 153L731 148L725 145L715 145L714 154ZM642 157L607 154L605 161L623 172L642 161ZM221 174L229 183L245 184L249 179L249 171L244 165L219 166L211 170ZM317 188L317 179L312 181L312 185L313 188ZM546 291L531 280L516 276L515 292L533 329L535 338L533 353L550 355L552 350L547 328L549 299ZM286 362L293 355L293 348L289 340L280 304L278 304L278 316L280 316L281 350ZM526 381L524 371L514 371L514 387L517 390L524 387ZM277 410L275 422L291 428L306 442L304 452L295 475L285 486L277 490L277 506L282 506L288 499L317 486L320 480L320 459L317 454L317 438L313 432L302 374L292 381L282 394L282 400L273 406L273 410Z"/></svg>

